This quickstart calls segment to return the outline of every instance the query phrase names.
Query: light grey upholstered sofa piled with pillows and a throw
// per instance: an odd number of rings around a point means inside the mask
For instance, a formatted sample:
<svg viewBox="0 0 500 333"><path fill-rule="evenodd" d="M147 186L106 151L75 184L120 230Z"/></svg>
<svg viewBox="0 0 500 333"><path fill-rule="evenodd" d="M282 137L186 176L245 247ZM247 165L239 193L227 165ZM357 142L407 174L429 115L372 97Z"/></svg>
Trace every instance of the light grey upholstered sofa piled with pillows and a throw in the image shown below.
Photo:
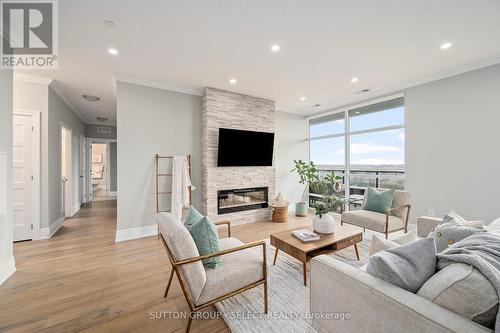
<svg viewBox="0 0 500 333"><path fill-rule="evenodd" d="M441 219L420 218L418 234L427 236L439 222ZM488 232L500 233L500 220L496 226L498 229L489 228ZM320 332L492 332L326 255L311 260L310 297L313 324ZM343 319L335 318L335 313Z"/></svg>

